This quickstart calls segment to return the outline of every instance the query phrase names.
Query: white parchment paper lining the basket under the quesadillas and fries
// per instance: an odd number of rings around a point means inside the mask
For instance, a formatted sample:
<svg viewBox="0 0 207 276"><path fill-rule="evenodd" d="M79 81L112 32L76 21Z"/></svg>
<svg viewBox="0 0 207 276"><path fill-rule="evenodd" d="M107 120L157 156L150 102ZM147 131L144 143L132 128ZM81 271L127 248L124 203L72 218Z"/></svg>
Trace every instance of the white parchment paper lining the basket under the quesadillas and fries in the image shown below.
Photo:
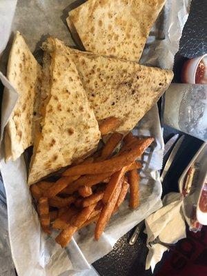
<svg viewBox="0 0 207 276"><path fill-rule="evenodd" d="M0 34L3 37L0 41L0 49L5 48L10 37L10 26L16 4L12 30L19 30L26 37L28 46L37 59L40 57L39 46L48 35L54 35L68 45L74 45L66 26L66 17L68 11L74 8L74 2L70 0L19 0L18 2L1 0L0 14L3 14L6 19L4 25L0 24ZM152 28L140 63L172 68L175 53L179 48L181 30L188 17L189 3L190 1L187 0L167 1L164 12ZM0 23L2 21L4 20L0 17ZM0 68L3 73L6 72L9 50L10 43L1 57ZM2 134L18 95L2 74L0 78L7 88L2 104ZM125 201L119 213L110 220L99 242L93 239L94 226L88 226L75 235L75 239L72 239L66 250L55 244L52 237L46 237L41 233L37 213L31 204L26 184L26 165L23 157L5 164L1 155L0 168L7 195L10 246L19 276L66 276L74 275L78 271L83 271L86 275L94 275L89 263L95 262L96 259L108 253L119 237L161 207L159 170L162 165L164 142L157 106L148 112L134 132L137 135L155 137L151 150L147 150L143 157L141 206L132 212L128 209L128 201ZM3 148L1 152L2 150ZM55 236L55 233L52 235Z"/></svg>

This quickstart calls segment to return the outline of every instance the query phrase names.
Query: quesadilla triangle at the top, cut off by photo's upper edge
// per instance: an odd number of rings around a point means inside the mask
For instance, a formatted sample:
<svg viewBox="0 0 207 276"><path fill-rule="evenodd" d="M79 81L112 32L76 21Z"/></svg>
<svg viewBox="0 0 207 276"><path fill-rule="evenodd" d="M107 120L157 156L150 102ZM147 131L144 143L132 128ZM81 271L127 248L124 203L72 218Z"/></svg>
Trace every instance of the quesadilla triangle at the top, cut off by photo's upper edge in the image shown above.
<svg viewBox="0 0 207 276"><path fill-rule="evenodd" d="M68 27L88 52L139 61L165 1L88 0L69 12Z"/></svg>

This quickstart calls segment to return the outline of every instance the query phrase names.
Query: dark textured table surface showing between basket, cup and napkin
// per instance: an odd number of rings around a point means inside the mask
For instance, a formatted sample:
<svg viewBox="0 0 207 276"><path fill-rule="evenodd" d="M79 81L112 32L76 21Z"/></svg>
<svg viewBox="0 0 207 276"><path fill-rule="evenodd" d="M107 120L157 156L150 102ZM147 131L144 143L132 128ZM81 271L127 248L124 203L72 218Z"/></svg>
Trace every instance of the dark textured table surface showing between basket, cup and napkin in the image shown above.
<svg viewBox="0 0 207 276"><path fill-rule="evenodd" d="M193 0L190 7L188 21L184 26L181 37L179 52L175 56L174 82L180 83L180 73L184 61L188 58L199 57L207 52L207 1ZM179 131L164 126L164 141L168 141L175 133ZM203 142L195 137L185 135L181 149L176 155L172 166L166 175L163 183L163 195L172 191L177 191L178 179L184 168L188 165L195 152ZM165 160L164 160L165 161ZM108 255L102 257L93 264L101 276L150 276L150 270L145 270L146 255L146 235L141 234L134 246L128 244L128 239L132 235L133 229L124 237L121 237L115 244L113 250ZM163 259L155 267L153 275L160 270L168 253L164 254Z"/></svg>

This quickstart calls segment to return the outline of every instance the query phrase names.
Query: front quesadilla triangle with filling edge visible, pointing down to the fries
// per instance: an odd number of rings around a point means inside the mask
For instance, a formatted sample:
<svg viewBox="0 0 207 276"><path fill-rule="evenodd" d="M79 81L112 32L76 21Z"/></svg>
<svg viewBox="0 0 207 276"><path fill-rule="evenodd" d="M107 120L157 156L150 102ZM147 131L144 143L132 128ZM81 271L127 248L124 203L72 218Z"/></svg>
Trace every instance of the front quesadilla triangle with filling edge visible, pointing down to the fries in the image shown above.
<svg viewBox="0 0 207 276"><path fill-rule="evenodd" d="M42 119L34 137L28 184L95 150L100 139L97 120L68 48L52 37L42 48Z"/></svg>

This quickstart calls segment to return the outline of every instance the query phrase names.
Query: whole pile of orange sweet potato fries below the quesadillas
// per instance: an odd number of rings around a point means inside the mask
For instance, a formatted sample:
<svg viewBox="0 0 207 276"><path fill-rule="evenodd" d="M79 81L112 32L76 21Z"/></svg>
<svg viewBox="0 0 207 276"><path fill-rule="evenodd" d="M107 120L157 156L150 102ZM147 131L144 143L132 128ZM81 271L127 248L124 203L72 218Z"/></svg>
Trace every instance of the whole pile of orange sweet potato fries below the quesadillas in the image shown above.
<svg viewBox="0 0 207 276"><path fill-rule="evenodd" d="M116 118L99 126L101 136L119 126ZM123 140L123 141L122 141ZM61 232L56 242L67 246L72 235L96 221L95 239L103 233L110 217L116 213L130 188L132 209L139 206L139 174L141 163L136 161L154 139L137 139L132 133L114 132L105 146L91 157L79 159L67 168L56 182L40 181L30 186L41 227L50 235L53 229ZM115 148L123 144L118 153Z"/></svg>

